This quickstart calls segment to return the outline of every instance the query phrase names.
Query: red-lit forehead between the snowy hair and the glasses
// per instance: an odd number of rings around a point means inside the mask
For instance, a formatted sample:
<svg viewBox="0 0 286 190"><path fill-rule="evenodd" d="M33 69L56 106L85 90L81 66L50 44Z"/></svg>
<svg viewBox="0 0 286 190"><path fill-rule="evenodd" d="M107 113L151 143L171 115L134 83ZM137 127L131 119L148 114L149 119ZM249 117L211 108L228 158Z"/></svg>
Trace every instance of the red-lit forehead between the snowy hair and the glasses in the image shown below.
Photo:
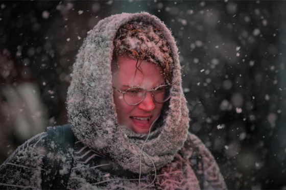
<svg viewBox="0 0 286 190"><path fill-rule="evenodd" d="M155 63L118 56L117 64L118 68L113 70L112 85L153 88L164 82L162 68Z"/></svg>

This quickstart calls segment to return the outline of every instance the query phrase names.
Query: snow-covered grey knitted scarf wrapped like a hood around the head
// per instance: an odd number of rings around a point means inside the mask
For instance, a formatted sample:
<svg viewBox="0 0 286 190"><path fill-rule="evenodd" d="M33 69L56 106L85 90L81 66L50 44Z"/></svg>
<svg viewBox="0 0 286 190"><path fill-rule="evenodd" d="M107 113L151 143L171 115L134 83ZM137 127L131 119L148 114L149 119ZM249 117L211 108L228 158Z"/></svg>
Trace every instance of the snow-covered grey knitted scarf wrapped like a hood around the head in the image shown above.
<svg viewBox="0 0 286 190"><path fill-rule="evenodd" d="M164 103L160 122L144 144L146 134L119 126L113 102L111 61L116 31L130 21L160 28L172 49L174 66L171 99ZM149 13L122 13L98 22L88 32L74 64L67 92L69 123L82 143L108 155L114 165L134 173L148 173L174 159L187 137L188 110L181 86L178 50L171 32ZM141 147L144 144L140 159ZM141 163L141 170L140 168Z"/></svg>

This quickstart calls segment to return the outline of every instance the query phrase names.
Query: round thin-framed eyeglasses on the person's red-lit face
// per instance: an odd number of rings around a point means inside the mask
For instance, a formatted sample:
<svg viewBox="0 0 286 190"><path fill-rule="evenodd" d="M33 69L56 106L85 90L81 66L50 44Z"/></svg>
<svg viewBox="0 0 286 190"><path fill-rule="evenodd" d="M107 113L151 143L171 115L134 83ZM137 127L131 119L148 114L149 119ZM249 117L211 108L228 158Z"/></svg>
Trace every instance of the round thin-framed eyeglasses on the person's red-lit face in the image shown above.
<svg viewBox="0 0 286 190"><path fill-rule="evenodd" d="M115 88L114 86L112 87L118 92L123 93L123 99L125 103L130 106L135 106L139 104L140 102L142 102L142 100L144 100L146 96L147 91L151 92L153 99L157 103L166 102L167 100L171 98L171 94L170 94L171 86L168 84L160 85L151 90L146 90L146 89L139 88L139 87L131 87L131 88L128 88L127 90L121 91Z"/></svg>

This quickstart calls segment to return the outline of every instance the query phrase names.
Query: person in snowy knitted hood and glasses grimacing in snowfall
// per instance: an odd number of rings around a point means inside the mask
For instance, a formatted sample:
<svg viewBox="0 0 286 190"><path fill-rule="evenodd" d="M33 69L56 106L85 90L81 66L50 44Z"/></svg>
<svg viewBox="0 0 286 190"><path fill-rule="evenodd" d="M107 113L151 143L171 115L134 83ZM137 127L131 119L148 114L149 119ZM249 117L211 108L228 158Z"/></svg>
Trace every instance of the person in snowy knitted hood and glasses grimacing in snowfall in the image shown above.
<svg viewBox="0 0 286 190"><path fill-rule="evenodd" d="M226 189L213 156L188 132L180 69L175 40L157 17L99 21L67 92L74 143L63 148L49 131L34 136L1 165L0 187Z"/></svg>

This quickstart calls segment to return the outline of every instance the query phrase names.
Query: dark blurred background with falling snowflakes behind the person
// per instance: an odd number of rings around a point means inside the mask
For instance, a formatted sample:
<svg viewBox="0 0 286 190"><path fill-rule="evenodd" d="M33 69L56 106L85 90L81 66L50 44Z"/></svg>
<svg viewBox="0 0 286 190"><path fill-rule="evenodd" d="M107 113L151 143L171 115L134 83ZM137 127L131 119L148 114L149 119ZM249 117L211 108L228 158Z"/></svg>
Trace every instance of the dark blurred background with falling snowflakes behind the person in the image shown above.
<svg viewBox="0 0 286 190"><path fill-rule="evenodd" d="M1 1L0 163L67 122L73 63L87 32L147 11L172 30L190 131L229 189L286 189L285 1Z"/></svg>

